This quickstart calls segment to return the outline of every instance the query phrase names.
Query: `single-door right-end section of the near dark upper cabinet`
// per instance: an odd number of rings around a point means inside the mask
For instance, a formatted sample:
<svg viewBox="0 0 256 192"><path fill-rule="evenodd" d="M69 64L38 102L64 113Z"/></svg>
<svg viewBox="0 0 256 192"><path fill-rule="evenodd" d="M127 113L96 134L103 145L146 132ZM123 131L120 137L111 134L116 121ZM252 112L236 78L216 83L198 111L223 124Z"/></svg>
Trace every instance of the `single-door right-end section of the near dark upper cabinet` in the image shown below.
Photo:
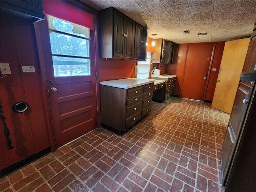
<svg viewBox="0 0 256 192"><path fill-rule="evenodd" d="M136 23L135 26L135 46L134 46L134 59L146 60L146 41L147 41L147 29L142 25Z"/></svg>

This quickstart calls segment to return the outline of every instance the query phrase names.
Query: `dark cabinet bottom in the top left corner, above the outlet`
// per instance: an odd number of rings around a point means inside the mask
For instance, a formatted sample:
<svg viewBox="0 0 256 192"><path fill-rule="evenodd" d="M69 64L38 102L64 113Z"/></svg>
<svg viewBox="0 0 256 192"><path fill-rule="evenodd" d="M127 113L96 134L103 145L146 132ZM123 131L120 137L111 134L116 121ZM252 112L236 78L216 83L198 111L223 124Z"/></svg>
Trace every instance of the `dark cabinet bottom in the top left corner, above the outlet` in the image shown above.
<svg viewBox="0 0 256 192"><path fill-rule="evenodd" d="M1 1L1 11L26 18L31 23L44 19L42 1Z"/></svg>

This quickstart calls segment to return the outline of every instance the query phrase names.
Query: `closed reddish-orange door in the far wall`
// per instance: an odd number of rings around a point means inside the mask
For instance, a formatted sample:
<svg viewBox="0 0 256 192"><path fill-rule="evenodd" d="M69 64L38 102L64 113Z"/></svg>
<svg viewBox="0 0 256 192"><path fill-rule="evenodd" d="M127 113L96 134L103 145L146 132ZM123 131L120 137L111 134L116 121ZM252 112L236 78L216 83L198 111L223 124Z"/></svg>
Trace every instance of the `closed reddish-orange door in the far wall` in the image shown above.
<svg viewBox="0 0 256 192"><path fill-rule="evenodd" d="M182 97L203 100L214 44L190 45L186 60Z"/></svg>

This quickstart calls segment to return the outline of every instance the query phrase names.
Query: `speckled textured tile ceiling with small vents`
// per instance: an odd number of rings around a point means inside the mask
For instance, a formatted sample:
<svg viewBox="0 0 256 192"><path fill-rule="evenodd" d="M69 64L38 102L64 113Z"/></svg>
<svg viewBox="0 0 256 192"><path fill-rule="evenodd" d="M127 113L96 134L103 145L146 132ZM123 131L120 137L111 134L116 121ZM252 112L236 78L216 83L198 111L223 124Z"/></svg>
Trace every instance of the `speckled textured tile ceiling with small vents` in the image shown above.
<svg viewBox="0 0 256 192"><path fill-rule="evenodd" d="M218 42L250 37L256 0L82 0L102 10L114 7L148 27L148 36L175 43ZM190 34L184 34L190 30ZM198 36L198 33L206 35Z"/></svg>

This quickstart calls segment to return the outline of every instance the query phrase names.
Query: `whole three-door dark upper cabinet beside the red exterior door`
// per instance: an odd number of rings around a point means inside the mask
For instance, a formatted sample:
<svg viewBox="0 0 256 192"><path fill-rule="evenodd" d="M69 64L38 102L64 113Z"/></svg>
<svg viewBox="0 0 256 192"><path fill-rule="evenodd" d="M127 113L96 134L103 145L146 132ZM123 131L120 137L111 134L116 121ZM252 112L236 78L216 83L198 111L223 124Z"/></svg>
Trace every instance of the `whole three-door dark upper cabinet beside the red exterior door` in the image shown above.
<svg viewBox="0 0 256 192"><path fill-rule="evenodd" d="M115 8L99 11L100 58L146 60L145 34L147 29Z"/></svg>

